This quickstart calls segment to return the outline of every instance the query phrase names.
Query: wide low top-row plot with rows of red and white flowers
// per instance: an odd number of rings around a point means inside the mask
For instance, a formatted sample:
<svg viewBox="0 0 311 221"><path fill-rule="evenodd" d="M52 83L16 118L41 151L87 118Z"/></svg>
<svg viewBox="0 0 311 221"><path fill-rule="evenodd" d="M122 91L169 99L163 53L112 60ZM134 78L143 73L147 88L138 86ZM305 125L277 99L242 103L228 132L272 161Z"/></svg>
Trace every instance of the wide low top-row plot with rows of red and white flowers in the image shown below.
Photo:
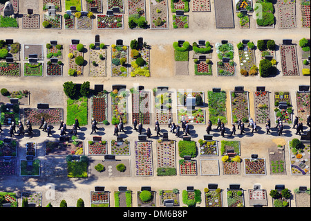
<svg viewBox="0 0 311 221"><path fill-rule="evenodd" d="M97 15L97 29L124 28L123 15Z"/></svg>

